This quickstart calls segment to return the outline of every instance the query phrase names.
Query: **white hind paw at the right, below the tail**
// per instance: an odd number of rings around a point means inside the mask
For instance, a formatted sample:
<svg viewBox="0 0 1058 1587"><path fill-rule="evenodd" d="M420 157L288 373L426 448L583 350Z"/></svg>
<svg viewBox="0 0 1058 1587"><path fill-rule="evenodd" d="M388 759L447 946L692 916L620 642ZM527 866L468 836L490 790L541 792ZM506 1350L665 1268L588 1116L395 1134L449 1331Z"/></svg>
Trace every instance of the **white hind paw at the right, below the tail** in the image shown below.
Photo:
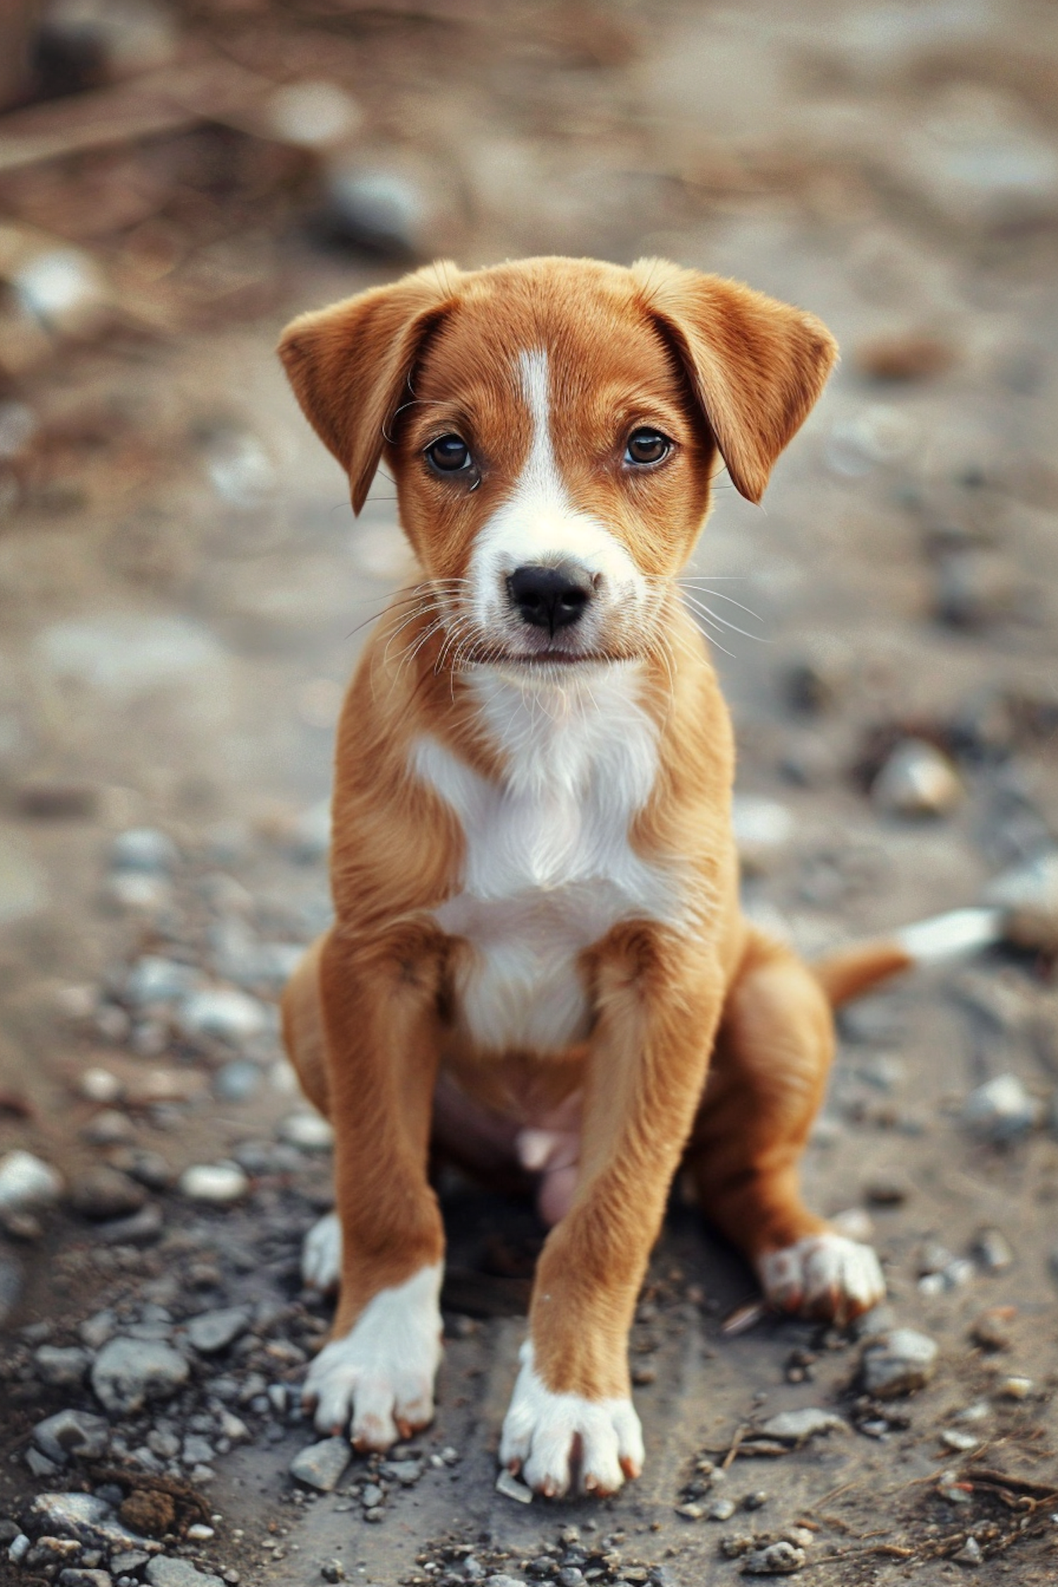
<svg viewBox="0 0 1058 1587"><path fill-rule="evenodd" d="M760 1282L772 1306L806 1317L849 1322L885 1298L885 1279L869 1246L844 1235L811 1235L760 1258Z"/></svg>

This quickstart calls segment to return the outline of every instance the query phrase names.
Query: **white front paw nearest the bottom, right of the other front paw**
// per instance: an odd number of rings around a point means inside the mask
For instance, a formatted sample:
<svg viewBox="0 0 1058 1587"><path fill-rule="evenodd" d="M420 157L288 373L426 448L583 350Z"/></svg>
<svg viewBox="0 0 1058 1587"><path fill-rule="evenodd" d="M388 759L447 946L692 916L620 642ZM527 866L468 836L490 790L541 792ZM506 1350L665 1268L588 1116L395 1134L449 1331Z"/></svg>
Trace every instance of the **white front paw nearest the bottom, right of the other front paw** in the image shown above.
<svg viewBox="0 0 1058 1587"><path fill-rule="evenodd" d="M631 1400L582 1400L552 1393L533 1366L533 1346L520 1352L511 1406L503 1420L500 1462L538 1493L562 1498L615 1493L625 1477L642 1471L642 1428Z"/></svg>

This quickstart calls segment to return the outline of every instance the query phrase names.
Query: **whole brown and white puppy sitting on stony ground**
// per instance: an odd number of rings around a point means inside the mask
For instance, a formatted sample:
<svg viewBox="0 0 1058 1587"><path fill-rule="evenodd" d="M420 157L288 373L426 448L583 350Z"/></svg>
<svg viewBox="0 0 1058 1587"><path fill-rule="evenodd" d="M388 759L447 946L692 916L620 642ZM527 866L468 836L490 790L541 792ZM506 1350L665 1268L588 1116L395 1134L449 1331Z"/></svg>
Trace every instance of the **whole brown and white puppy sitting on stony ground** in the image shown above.
<svg viewBox="0 0 1058 1587"><path fill-rule="evenodd" d="M760 500L834 341L661 260L530 259L416 271L279 351L354 509L385 457L422 570L346 700L336 922L284 1005L335 1125L306 1274L341 1295L306 1397L357 1447L431 1419L431 1143L520 1162L554 1227L500 1457L542 1493L612 1492L642 1465L627 1335L680 1160L776 1306L884 1293L798 1160L831 1001L952 928L811 971L746 922L731 725L676 582L715 470Z"/></svg>

